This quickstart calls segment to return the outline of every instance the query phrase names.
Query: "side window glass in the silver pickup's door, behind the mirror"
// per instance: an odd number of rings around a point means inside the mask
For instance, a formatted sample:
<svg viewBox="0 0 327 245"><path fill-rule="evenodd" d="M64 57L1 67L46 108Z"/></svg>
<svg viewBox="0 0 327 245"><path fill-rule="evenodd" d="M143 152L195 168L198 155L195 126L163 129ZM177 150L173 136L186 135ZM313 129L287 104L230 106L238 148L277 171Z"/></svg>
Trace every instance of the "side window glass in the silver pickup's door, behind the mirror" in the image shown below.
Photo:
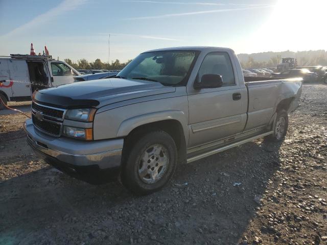
<svg viewBox="0 0 327 245"><path fill-rule="evenodd" d="M223 79L223 86L235 85L234 72L227 53L207 54L198 72L199 81L205 74L220 75Z"/></svg>

